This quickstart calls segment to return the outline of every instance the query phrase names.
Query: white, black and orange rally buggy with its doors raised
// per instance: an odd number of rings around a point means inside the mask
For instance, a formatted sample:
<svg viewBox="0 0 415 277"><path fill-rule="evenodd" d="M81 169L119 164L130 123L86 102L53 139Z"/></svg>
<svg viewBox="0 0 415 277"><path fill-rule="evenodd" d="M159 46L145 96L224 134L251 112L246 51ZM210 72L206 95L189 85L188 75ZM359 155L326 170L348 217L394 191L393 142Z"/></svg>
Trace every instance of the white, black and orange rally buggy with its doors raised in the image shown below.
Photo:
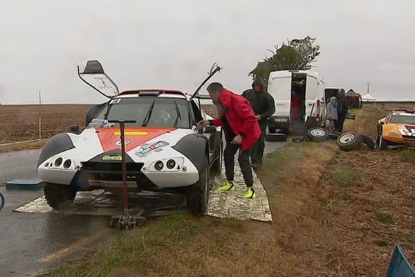
<svg viewBox="0 0 415 277"><path fill-rule="evenodd" d="M205 82L219 69L211 71ZM87 62L83 71L78 67L78 75L84 82L87 75L112 82L98 61ZM179 190L190 208L205 211L210 171L221 172L222 135L216 127L197 129L199 120L209 119L196 100L197 91L192 97L165 89L116 93L91 109L82 132L75 129L49 139L37 164L48 204L62 208L82 190L122 193L120 129L110 122L133 120L125 123L124 131L129 190Z"/></svg>

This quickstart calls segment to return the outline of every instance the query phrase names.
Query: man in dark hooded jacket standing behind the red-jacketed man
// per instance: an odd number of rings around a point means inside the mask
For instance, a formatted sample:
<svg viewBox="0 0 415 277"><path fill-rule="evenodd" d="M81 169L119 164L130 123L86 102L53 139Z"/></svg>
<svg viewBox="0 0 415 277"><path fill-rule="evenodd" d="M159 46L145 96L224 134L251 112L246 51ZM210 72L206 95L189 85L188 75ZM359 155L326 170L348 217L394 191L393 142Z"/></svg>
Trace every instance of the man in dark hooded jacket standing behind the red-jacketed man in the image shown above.
<svg viewBox="0 0 415 277"><path fill-rule="evenodd" d="M261 137L252 147L250 155L252 168L257 168L261 165L264 156L266 125L268 118L275 112L275 102L273 96L266 91L264 79L259 76L252 82L252 89L243 91L242 96L251 103L261 127Z"/></svg>

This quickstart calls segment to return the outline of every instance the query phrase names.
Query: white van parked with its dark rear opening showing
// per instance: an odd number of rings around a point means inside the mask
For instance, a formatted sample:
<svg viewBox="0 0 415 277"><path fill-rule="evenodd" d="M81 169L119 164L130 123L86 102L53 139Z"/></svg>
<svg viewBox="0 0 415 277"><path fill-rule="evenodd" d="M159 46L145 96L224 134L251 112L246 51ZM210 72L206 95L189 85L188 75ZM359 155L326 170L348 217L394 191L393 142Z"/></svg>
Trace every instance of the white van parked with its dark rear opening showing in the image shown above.
<svg viewBox="0 0 415 277"><path fill-rule="evenodd" d="M268 78L268 93L275 100L275 114L268 119L268 130L288 133L291 125L323 127L326 123L324 80L315 71L274 71Z"/></svg>

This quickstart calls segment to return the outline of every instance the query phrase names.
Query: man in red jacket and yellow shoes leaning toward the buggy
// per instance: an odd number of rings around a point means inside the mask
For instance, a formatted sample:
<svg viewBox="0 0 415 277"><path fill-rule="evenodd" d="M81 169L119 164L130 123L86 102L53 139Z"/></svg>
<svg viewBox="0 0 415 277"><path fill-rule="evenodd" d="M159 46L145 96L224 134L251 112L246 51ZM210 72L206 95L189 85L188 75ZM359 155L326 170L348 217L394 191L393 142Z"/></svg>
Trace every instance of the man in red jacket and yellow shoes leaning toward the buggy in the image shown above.
<svg viewBox="0 0 415 277"><path fill-rule="evenodd" d="M201 120L198 125L199 128L206 125L221 126L225 132L226 148L223 152L223 160L227 181L219 189L221 191L235 190L234 156L239 150L238 161L247 190L238 197L255 198L256 193L252 187L254 179L249 158L252 146L261 136L257 117L246 98L224 89L219 82L210 84L208 92L214 105L218 107L219 117L214 120Z"/></svg>

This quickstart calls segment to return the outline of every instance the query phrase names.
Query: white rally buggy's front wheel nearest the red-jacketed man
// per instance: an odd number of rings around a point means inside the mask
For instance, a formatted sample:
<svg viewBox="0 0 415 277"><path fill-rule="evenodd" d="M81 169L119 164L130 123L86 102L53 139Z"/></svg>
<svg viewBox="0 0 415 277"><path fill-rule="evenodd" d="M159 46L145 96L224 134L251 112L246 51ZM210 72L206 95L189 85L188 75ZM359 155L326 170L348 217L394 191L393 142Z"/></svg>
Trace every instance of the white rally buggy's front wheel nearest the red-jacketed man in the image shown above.
<svg viewBox="0 0 415 277"><path fill-rule="evenodd" d="M194 213L205 213L208 210L210 178L209 165L206 159L205 167L199 174L199 181L186 190L187 206Z"/></svg>

